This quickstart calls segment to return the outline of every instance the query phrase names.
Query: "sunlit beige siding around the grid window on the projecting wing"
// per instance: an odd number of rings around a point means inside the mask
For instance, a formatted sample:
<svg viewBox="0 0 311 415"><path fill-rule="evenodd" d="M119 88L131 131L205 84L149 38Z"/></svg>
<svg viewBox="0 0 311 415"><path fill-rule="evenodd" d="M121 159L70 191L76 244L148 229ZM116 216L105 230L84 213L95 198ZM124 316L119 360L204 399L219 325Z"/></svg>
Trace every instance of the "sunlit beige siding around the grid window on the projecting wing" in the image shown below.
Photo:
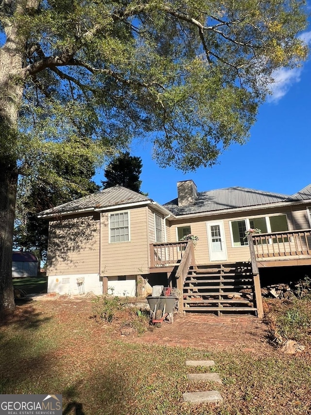
<svg viewBox="0 0 311 415"><path fill-rule="evenodd" d="M148 208L133 208L129 212L130 240L109 242L109 213L102 213L101 268L104 276L137 275L148 272ZM148 219L147 219L148 218Z"/></svg>

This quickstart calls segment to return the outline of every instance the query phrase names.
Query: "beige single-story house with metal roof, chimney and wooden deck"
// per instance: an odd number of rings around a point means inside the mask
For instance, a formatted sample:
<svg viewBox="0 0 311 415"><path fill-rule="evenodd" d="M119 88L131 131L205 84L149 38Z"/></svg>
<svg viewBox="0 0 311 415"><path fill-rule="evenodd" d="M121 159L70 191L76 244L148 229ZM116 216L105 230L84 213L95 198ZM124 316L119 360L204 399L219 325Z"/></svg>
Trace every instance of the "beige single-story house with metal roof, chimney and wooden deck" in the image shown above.
<svg viewBox="0 0 311 415"><path fill-rule="evenodd" d="M164 205L117 185L41 212L50 221L48 292L132 296L173 286L185 311L260 316L260 271L311 265L310 210L311 185L288 196L198 192L185 180ZM189 234L198 241L183 241Z"/></svg>

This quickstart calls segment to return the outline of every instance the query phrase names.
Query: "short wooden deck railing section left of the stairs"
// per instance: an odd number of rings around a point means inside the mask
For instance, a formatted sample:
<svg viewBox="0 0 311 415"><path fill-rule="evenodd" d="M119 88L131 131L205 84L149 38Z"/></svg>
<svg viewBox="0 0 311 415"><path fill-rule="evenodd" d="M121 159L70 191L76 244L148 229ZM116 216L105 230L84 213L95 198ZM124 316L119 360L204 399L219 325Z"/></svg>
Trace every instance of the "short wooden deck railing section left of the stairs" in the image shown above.
<svg viewBox="0 0 311 415"><path fill-rule="evenodd" d="M150 244L150 267L167 267L180 263L189 241Z"/></svg>

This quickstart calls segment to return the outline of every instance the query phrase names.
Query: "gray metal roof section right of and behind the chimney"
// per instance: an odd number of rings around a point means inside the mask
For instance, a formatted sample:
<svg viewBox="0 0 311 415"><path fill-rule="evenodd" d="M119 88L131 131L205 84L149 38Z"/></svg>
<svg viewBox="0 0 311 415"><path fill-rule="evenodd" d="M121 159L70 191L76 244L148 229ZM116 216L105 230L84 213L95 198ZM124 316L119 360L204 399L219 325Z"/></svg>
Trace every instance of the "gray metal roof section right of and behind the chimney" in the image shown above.
<svg viewBox="0 0 311 415"><path fill-rule="evenodd" d="M263 192L245 187L228 187L226 189L199 192L194 205L178 206L178 199L176 198L163 206L174 215L179 216L276 203L283 201L285 198L288 198L288 195Z"/></svg>

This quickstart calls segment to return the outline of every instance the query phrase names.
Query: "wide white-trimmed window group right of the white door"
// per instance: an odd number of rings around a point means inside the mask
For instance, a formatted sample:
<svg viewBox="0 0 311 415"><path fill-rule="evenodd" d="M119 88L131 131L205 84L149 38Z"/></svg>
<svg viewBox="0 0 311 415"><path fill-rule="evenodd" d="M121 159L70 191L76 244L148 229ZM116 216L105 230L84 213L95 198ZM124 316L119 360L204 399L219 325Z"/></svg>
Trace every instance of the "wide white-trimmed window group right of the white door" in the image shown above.
<svg viewBox="0 0 311 415"><path fill-rule="evenodd" d="M288 231L286 215L253 217L230 222L232 246L247 246L245 231L248 229L260 229L262 234L269 232Z"/></svg>

